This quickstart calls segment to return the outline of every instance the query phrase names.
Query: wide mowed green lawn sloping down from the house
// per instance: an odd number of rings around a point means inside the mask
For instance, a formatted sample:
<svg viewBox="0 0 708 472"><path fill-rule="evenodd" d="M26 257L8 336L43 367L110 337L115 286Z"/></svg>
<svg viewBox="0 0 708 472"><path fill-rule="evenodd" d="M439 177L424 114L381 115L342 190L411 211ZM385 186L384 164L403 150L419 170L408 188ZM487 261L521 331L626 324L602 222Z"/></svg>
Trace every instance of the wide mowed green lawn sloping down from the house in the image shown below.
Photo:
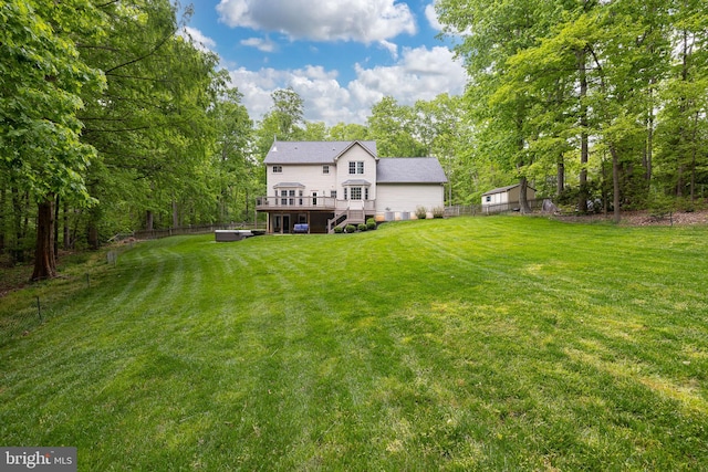
<svg viewBox="0 0 708 472"><path fill-rule="evenodd" d="M707 470L707 261L705 227L519 217L140 243L0 298L3 325L48 300L0 339L0 445L82 471Z"/></svg>

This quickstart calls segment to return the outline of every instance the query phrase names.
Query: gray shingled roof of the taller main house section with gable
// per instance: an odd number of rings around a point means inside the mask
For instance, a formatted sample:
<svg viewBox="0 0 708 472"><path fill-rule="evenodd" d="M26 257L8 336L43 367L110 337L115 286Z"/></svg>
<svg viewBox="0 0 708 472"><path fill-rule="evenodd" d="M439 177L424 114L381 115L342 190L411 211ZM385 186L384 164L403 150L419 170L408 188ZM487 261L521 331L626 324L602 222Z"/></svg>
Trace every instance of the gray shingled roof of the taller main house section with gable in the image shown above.
<svg viewBox="0 0 708 472"><path fill-rule="evenodd" d="M334 159L357 141L275 141L264 164L334 164ZM358 141L376 156L376 141Z"/></svg>

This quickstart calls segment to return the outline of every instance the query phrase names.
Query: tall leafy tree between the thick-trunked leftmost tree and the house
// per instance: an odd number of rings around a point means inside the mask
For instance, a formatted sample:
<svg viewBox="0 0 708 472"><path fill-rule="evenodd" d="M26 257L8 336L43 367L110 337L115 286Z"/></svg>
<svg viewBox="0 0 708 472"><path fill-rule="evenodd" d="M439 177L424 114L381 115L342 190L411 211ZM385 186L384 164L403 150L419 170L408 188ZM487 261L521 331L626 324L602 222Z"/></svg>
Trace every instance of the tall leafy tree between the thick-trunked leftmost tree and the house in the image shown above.
<svg viewBox="0 0 708 472"><path fill-rule="evenodd" d="M216 55L177 35L176 10L168 0L105 2L102 8L112 34L81 45L107 78L107 90L87 96L90 107L82 114L84 140L100 153L88 175L92 195L102 202L90 213L91 247L97 247L102 228L125 213L126 201L147 228L156 218L165 225L179 223L180 211L194 217L194 204L181 208L189 201L214 201L201 167L214 137L206 111L214 103Z"/></svg>

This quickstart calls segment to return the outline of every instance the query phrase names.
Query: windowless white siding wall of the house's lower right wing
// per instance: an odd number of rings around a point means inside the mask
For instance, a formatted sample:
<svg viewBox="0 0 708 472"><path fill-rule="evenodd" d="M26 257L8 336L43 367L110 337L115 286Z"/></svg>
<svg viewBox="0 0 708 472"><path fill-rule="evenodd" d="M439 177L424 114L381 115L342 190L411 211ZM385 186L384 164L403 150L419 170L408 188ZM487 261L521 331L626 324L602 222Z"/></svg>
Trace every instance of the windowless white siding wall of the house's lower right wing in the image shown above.
<svg viewBox="0 0 708 472"><path fill-rule="evenodd" d="M376 199L376 214L386 211L399 213L408 211L413 216L418 207L428 212L445 204L444 187L440 183L379 183ZM389 210L386 210L386 209Z"/></svg>

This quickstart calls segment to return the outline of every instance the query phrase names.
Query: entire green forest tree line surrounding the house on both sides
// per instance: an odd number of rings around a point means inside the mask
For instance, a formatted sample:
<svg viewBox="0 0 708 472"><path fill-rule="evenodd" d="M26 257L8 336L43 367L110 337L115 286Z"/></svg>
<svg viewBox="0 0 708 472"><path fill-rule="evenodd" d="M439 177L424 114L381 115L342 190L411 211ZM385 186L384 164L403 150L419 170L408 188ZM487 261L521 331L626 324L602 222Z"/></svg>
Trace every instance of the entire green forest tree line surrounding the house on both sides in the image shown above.
<svg viewBox="0 0 708 472"><path fill-rule="evenodd" d="M55 274L60 249L138 229L249 221L280 140L374 139L435 156L447 204L520 182L577 211L693 209L708 183L708 12L698 0L439 0L469 85L366 124L260 120L169 0L0 3L0 255ZM598 202L595 204L593 202ZM618 213L616 213L618 214Z"/></svg>

